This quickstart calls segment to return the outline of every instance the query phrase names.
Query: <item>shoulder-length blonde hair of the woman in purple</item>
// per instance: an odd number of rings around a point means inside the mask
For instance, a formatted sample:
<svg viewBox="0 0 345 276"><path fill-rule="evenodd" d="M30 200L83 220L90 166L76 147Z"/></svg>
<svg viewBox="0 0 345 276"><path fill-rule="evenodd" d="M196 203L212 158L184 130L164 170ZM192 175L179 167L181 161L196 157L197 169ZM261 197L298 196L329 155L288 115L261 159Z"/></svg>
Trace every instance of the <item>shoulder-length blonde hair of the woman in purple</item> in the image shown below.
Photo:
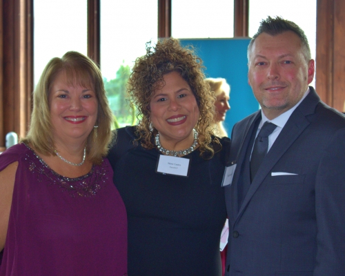
<svg viewBox="0 0 345 276"><path fill-rule="evenodd" d="M83 87L92 86L98 101L96 124L88 135L86 152L92 164L100 164L102 157L106 156L113 141L111 126L112 112L109 108L103 78L98 66L90 58L79 52L66 52L60 59L51 59L37 83L33 93L33 109L30 129L26 138L21 139L30 144L34 150L43 155L54 155L54 137L52 137L52 123L50 118L49 95L52 84L59 72L65 72L68 84Z"/></svg>

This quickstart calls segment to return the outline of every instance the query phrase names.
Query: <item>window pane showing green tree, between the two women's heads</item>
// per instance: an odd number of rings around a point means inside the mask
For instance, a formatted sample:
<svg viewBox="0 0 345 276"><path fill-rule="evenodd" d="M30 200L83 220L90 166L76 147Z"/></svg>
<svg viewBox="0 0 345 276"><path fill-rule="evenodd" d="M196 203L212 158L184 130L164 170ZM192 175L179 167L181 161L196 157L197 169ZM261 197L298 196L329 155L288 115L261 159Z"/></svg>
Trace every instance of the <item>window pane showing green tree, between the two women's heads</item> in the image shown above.
<svg viewBox="0 0 345 276"><path fill-rule="evenodd" d="M146 42L157 40L157 0L101 1L101 71L117 127L136 122L126 83Z"/></svg>

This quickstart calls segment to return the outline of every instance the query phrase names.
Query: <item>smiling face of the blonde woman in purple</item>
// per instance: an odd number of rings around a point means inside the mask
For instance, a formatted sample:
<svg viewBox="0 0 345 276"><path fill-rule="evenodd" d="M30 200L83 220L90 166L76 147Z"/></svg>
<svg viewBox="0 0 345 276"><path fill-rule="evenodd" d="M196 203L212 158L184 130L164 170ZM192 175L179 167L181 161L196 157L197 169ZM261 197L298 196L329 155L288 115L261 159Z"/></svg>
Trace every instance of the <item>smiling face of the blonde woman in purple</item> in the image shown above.
<svg viewBox="0 0 345 276"><path fill-rule="evenodd" d="M52 134L57 142L86 141L97 121L97 97L93 87L70 85L59 72L49 92Z"/></svg>

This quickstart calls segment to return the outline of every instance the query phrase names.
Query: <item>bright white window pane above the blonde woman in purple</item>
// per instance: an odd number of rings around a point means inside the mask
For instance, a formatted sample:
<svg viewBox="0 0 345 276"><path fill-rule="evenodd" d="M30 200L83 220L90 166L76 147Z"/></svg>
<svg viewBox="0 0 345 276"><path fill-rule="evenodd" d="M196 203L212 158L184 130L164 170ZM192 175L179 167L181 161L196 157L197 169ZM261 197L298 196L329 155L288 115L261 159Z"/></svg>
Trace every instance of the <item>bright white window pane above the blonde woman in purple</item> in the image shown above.
<svg viewBox="0 0 345 276"><path fill-rule="evenodd" d="M53 57L87 55L87 0L34 0L34 85Z"/></svg>

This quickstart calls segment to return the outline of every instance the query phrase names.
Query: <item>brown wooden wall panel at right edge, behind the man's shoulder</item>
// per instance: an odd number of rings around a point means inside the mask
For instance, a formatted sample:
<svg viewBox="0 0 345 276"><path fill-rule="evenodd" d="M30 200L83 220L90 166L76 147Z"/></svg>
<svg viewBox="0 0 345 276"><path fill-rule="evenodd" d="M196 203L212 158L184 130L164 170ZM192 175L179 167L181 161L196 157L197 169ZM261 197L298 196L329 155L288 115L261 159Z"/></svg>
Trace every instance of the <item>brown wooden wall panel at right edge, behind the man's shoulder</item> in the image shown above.
<svg viewBox="0 0 345 276"><path fill-rule="evenodd" d="M345 112L345 1L317 0L316 90L322 101Z"/></svg>

